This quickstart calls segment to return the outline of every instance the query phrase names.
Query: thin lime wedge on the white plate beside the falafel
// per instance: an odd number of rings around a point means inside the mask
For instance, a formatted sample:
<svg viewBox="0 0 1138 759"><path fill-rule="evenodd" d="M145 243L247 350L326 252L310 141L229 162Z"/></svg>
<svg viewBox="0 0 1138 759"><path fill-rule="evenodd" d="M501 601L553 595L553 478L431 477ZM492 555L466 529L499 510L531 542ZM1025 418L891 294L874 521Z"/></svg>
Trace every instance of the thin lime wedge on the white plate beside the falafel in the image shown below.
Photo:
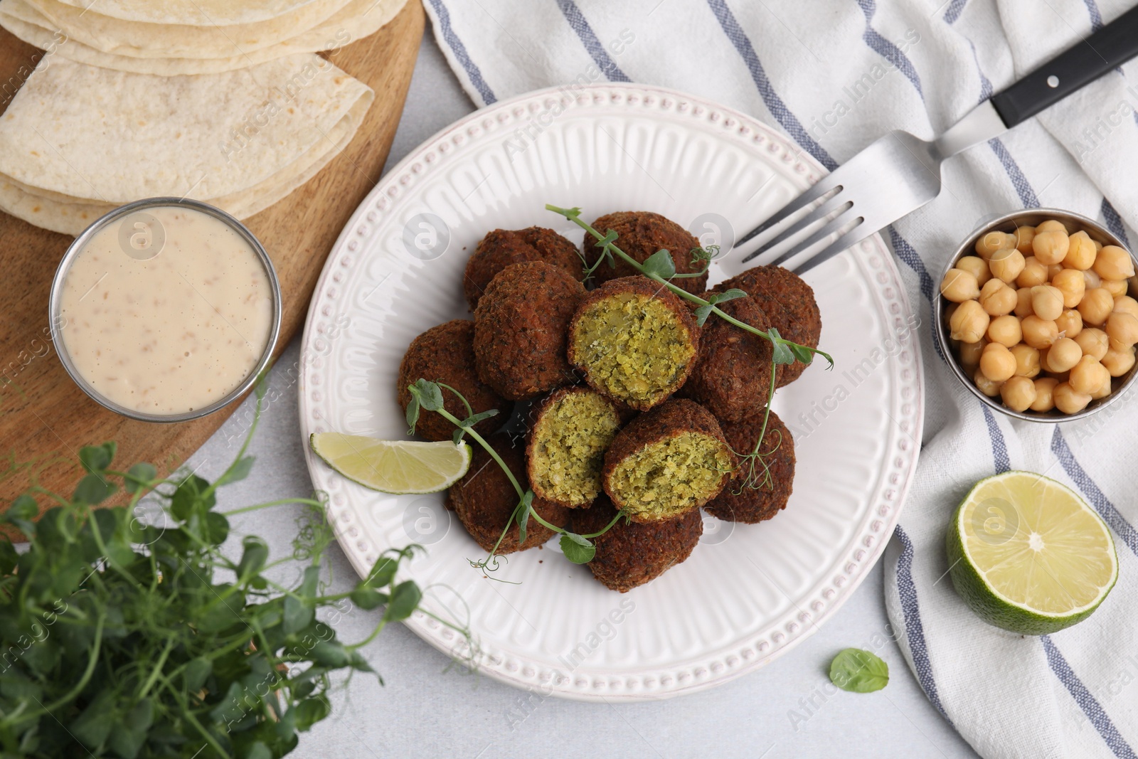
<svg viewBox="0 0 1138 759"><path fill-rule="evenodd" d="M437 493L470 469L470 446L418 440L377 440L360 435L318 432L313 452L353 482L384 493Z"/></svg>

